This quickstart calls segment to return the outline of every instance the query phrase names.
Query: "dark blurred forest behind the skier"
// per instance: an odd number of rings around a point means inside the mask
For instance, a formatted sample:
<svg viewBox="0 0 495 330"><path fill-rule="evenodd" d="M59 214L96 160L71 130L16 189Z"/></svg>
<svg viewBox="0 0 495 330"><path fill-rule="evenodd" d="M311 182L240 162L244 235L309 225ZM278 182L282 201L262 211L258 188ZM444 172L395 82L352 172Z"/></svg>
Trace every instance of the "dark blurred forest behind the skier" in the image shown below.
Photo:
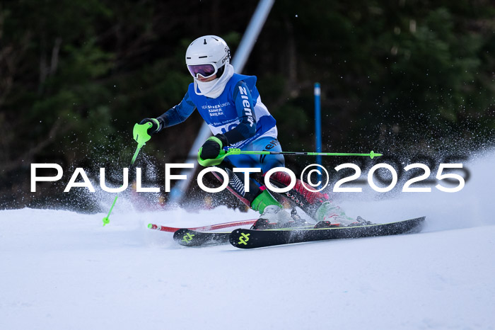
<svg viewBox="0 0 495 330"><path fill-rule="evenodd" d="M192 81L190 42L219 35L235 57L257 2L2 1L0 209L101 211L95 198L62 193L74 169L95 182L112 169L118 185L134 123L180 103ZM323 151L443 161L494 145L494 55L493 1L280 0L242 73L257 76L286 151L315 149L319 82ZM195 112L141 152L137 165L162 191L163 164L187 161L201 125ZM286 162L297 172L314 158ZM31 193L32 163L60 164L64 177ZM188 194L203 203L195 186Z"/></svg>

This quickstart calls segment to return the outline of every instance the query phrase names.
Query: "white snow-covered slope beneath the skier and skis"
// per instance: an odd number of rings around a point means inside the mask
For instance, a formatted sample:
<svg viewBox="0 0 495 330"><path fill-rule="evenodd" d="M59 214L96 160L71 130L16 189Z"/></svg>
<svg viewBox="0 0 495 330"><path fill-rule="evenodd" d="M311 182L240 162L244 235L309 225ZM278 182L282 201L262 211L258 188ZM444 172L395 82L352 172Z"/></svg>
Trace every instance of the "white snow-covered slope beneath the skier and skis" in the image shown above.
<svg viewBox="0 0 495 330"><path fill-rule="evenodd" d="M376 222L426 215L394 237L184 248L146 224L257 215L0 211L0 329L494 329L494 162L468 164L459 193L346 195Z"/></svg>

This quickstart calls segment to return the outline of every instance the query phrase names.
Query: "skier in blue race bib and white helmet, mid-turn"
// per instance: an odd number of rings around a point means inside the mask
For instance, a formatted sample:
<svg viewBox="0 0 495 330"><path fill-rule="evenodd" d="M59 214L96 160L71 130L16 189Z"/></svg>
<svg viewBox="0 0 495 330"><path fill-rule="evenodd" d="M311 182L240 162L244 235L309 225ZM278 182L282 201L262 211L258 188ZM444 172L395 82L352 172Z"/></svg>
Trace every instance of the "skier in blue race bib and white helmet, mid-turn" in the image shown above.
<svg viewBox="0 0 495 330"><path fill-rule="evenodd" d="M276 121L261 101L256 88L257 77L236 74L230 59L231 51L222 38L205 35L194 40L185 55L187 69L194 81L177 106L157 118L141 120L141 124L152 124L148 133L156 134L165 127L182 123L197 109L214 135L199 149L201 159L215 159L225 147L280 152ZM243 177L232 169L256 167L266 173L274 167L284 167L284 164L282 155L240 154L226 157L216 165L228 173L228 190L252 210L260 212L260 219L253 225L255 229L298 225L303 220L295 210L291 214L284 210L269 190L253 178L250 178L249 192L246 192ZM286 187L290 183L289 175L284 172L276 172L270 179L278 187ZM286 195L313 219L321 222L320 225L356 223L339 207L332 205L327 195L306 190L301 181Z"/></svg>

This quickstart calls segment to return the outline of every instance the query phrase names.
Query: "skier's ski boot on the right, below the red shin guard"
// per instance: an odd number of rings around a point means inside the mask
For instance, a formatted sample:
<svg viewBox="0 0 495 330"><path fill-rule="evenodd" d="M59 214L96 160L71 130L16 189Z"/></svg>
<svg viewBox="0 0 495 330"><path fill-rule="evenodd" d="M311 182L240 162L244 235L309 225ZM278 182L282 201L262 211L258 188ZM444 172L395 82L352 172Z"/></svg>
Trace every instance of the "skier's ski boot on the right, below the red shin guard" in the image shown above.
<svg viewBox="0 0 495 330"><path fill-rule="evenodd" d="M326 201L323 202L318 210L316 210L316 220L314 228L330 228L330 227L356 227L372 224L372 222L364 220L362 217L353 219L348 217L345 212L337 205Z"/></svg>

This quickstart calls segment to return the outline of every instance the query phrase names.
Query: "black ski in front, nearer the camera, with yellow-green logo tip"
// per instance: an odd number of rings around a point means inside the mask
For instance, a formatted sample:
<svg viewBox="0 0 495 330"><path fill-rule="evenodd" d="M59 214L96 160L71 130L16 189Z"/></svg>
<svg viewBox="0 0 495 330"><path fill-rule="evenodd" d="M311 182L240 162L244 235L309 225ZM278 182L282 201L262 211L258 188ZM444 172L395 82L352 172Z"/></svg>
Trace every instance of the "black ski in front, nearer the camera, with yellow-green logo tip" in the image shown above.
<svg viewBox="0 0 495 330"><path fill-rule="evenodd" d="M235 229L231 233L229 241L233 246L240 249L254 249L263 246L301 243L304 241L396 235L421 230L421 224L423 224L424 219L425 217L418 217L416 219L386 224L322 229Z"/></svg>

